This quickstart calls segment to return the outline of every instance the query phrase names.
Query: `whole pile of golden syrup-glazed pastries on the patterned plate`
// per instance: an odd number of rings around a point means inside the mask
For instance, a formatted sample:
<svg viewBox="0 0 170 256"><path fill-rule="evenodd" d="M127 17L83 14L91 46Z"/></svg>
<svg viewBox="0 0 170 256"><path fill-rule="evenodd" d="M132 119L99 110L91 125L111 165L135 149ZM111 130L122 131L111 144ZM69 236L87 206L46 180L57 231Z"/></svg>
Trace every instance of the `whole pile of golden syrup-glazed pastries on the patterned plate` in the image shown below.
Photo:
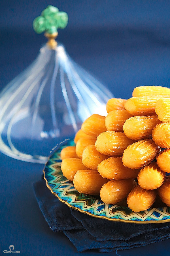
<svg viewBox="0 0 170 256"><path fill-rule="evenodd" d="M170 206L170 88L139 86L132 96L84 121L76 146L61 150L61 170L78 192L107 204L127 199L139 212L159 197Z"/></svg>

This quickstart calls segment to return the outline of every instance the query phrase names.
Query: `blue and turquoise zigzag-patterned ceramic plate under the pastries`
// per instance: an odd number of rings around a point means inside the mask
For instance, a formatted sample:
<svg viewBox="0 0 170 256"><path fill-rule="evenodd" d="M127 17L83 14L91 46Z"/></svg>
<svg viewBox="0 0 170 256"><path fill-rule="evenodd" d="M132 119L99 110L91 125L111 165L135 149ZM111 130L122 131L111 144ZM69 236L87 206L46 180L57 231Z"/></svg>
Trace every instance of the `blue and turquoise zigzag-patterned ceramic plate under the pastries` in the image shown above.
<svg viewBox="0 0 170 256"><path fill-rule="evenodd" d="M69 141L67 145L74 145ZM141 212L133 212L128 207L109 205L90 195L79 193L61 172L61 146L52 156L43 170L47 187L58 199L75 210L93 217L111 221L144 223L161 223L170 221L170 207L149 208Z"/></svg>

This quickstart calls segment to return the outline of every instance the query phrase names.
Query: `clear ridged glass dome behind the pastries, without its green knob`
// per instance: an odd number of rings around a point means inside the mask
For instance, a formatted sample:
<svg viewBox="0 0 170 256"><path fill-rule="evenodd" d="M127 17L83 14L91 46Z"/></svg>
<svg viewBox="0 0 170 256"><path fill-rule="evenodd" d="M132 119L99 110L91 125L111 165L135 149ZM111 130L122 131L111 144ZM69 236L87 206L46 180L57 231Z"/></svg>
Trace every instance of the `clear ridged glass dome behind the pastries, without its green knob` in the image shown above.
<svg viewBox="0 0 170 256"><path fill-rule="evenodd" d="M73 138L87 117L106 115L112 97L63 45L43 46L35 61L0 94L0 151L44 163L52 148Z"/></svg>

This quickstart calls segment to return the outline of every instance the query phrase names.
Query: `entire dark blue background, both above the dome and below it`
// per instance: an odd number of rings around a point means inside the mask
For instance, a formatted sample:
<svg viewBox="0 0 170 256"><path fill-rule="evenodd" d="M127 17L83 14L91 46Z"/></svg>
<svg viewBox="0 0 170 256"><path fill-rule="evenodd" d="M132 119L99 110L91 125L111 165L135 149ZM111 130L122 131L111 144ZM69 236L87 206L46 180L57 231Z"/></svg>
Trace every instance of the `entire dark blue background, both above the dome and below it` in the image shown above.
<svg viewBox="0 0 170 256"><path fill-rule="evenodd" d="M170 87L169 1L2 0L0 90L35 59L46 42L43 35L33 31L32 21L48 4L69 15L69 24L59 30L58 40L116 97L131 97L133 88L139 85ZM3 154L0 160L0 255L9 245L20 250L20 255L99 254L77 253L62 233L52 233L48 228L32 189L32 183L41 178L43 165ZM169 242L170 239L118 254L169 255Z"/></svg>

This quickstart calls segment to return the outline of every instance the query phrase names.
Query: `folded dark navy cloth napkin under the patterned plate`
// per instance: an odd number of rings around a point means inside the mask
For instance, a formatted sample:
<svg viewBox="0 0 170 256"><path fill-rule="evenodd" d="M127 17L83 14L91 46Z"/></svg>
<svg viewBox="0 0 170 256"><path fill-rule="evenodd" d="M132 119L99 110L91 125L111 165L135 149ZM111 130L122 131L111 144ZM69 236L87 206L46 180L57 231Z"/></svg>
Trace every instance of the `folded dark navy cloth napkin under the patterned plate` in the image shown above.
<svg viewBox="0 0 170 256"><path fill-rule="evenodd" d="M44 180L33 184L39 207L52 231L62 231L77 251L111 252L156 243L170 237L170 223L135 224L91 217L61 203Z"/></svg>

